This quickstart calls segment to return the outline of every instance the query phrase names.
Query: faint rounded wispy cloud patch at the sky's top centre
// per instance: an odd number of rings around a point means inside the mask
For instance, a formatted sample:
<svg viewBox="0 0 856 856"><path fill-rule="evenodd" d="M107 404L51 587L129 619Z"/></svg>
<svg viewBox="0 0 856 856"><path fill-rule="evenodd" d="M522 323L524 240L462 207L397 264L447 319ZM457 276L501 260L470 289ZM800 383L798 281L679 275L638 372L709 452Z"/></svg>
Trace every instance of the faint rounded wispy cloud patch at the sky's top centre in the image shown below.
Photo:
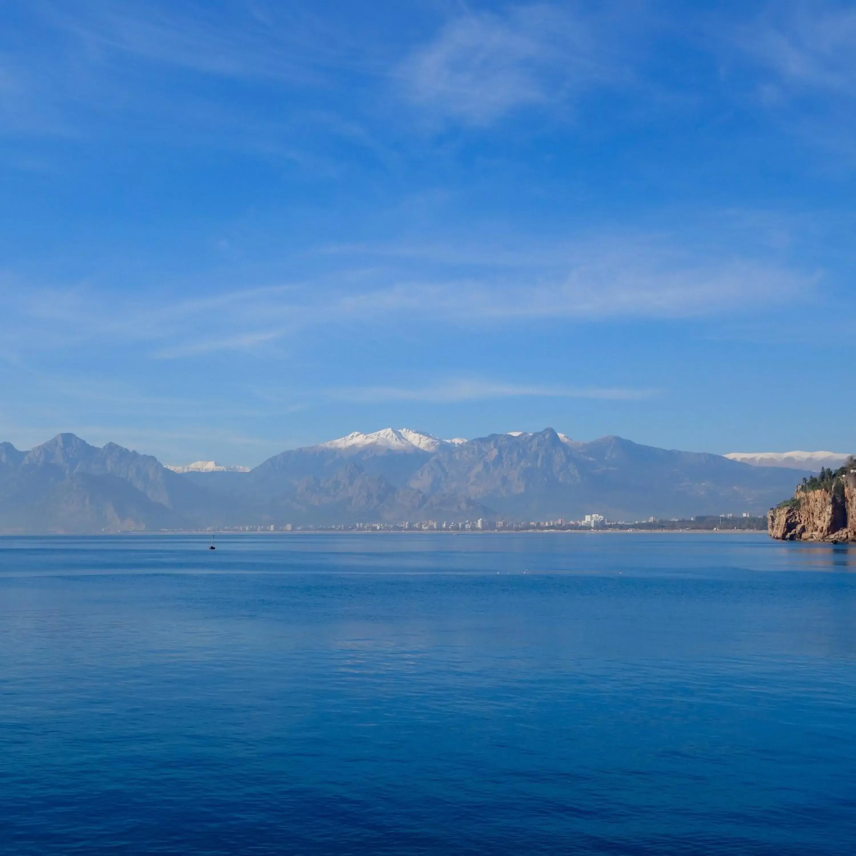
<svg viewBox="0 0 856 856"><path fill-rule="evenodd" d="M468 11L401 66L408 97L438 116L487 125L623 76L596 21L568 6Z"/></svg>

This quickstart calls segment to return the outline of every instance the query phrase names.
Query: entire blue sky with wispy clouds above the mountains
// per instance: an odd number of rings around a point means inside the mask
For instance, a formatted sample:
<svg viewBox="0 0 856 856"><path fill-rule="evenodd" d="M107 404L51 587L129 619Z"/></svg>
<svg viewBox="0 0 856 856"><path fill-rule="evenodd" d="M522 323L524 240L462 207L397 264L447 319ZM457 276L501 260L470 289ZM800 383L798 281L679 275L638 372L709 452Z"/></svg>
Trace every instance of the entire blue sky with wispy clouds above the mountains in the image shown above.
<svg viewBox="0 0 856 856"><path fill-rule="evenodd" d="M856 448L852 3L0 4L0 435Z"/></svg>

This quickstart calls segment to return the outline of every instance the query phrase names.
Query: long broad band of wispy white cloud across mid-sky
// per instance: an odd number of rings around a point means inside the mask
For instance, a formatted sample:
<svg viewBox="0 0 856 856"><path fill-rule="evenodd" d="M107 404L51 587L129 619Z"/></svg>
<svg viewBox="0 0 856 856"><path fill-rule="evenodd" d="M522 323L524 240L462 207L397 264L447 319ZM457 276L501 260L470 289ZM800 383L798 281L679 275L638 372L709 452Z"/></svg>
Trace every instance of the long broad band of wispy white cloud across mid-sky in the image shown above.
<svg viewBox="0 0 856 856"><path fill-rule="evenodd" d="M360 270L372 252L378 265ZM317 330L326 336L354 327L380 332L413 318L445 328L734 319L782 300L805 300L819 282L817 272L774 259L711 256L657 235L592 237L543 247L543 253L506 248L504 258L488 246L450 246L442 264L436 253L430 244L401 251L360 247L356 259L337 255L335 265L312 280L171 303L152 293L116 300L92 287L39 290L0 281L0 306L9 319L3 350L14 359L33 348L100 341L169 360L260 351ZM448 259L457 259L451 270Z"/></svg>

